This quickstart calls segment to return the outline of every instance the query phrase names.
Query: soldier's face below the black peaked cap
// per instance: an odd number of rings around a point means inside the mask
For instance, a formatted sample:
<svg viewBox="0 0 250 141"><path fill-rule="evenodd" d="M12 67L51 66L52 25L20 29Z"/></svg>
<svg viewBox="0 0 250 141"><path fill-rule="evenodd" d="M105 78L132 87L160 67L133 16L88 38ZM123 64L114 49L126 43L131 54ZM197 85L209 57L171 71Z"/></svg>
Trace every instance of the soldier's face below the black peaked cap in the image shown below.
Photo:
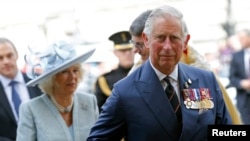
<svg viewBox="0 0 250 141"><path fill-rule="evenodd" d="M122 49L122 50L114 50L115 55L119 60L119 65L124 68L130 68L134 64L134 52L133 49Z"/></svg>

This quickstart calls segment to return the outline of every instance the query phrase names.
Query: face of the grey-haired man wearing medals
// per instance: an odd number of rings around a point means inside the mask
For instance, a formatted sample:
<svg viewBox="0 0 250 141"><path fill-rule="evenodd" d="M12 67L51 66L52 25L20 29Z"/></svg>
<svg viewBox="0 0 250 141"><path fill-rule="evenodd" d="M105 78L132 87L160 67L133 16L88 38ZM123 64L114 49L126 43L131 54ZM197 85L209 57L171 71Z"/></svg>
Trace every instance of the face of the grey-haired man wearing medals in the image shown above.
<svg viewBox="0 0 250 141"><path fill-rule="evenodd" d="M189 35L183 37L181 22L167 16L155 20L151 35L143 33L143 39L149 47L154 67L164 74L170 74L186 49Z"/></svg>

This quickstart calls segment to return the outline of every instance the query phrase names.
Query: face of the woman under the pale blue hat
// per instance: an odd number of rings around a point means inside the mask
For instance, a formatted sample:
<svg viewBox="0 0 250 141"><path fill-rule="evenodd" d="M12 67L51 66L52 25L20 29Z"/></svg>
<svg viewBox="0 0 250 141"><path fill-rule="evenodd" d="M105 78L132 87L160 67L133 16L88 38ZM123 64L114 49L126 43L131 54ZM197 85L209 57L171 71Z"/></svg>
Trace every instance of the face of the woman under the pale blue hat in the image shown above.
<svg viewBox="0 0 250 141"><path fill-rule="evenodd" d="M73 94L80 81L80 69L80 65L73 65L56 74L54 91Z"/></svg>

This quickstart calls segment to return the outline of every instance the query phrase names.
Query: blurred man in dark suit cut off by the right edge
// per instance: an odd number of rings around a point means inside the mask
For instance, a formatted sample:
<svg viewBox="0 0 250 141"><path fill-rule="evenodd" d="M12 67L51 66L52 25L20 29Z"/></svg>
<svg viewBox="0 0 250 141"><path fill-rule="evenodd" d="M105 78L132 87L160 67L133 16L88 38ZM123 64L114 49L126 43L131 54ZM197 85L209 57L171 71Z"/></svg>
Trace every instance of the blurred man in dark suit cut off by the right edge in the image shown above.
<svg viewBox="0 0 250 141"><path fill-rule="evenodd" d="M250 124L250 30L238 32L242 49L232 55L230 86L236 88L236 105L243 124Z"/></svg>

